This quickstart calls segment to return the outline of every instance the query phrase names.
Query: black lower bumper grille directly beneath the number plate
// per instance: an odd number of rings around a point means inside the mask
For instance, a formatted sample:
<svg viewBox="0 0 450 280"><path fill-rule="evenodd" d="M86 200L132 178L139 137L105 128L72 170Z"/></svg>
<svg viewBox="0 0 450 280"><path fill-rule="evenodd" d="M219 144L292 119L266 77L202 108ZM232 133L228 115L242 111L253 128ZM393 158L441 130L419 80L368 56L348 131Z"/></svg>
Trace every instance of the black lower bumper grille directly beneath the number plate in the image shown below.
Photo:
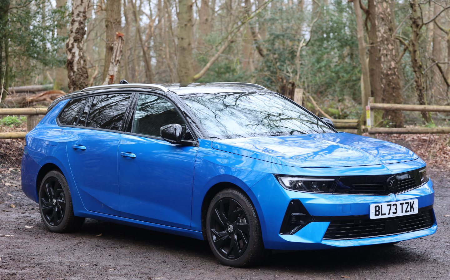
<svg viewBox="0 0 450 280"><path fill-rule="evenodd" d="M432 207L419 208L417 214L394 218L332 220L324 239L357 239L422 230L433 225Z"/></svg>

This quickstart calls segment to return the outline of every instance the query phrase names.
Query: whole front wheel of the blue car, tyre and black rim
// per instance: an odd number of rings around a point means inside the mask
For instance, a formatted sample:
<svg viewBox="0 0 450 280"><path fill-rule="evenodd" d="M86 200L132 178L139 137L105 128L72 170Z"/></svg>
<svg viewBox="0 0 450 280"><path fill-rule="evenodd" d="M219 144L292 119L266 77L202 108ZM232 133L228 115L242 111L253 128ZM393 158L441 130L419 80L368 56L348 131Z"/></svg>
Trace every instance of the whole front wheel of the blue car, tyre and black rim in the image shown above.
<svg viewBox="0 0 450 280"><path fill-rule="evenodd" d="M270 253L264 248L256 209L243 191L229 188L214 196L206 229L212 252L227 266L256 265Z"/></svg>

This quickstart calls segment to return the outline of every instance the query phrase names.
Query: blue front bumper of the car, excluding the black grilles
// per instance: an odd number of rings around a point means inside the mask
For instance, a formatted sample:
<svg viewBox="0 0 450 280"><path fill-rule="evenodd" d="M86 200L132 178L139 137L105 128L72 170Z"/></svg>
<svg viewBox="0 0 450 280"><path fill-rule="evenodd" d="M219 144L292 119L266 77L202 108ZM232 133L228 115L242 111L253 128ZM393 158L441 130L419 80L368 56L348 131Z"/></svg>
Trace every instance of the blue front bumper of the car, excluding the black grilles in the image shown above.
<svg viewBox="0 0 450 280"><path fill-rule="evenodd" d="M398 242L428 236L436 232L437 222L432 211L431 227L417 231L350 240L323 239L330 222L310 222L293 235L280 234L280 228L288 204L300 200L312 216L368 215L369 204L418 199L418 207L423 208L434 203L434 190L431 179L421 187L405 193L390 196L332 195L289 191L281 187L274 175L270 174L255 184L249 192L256 198L255 206L261 222L266 249L302 250L327 249L333 247L360 246Z"/></svg>

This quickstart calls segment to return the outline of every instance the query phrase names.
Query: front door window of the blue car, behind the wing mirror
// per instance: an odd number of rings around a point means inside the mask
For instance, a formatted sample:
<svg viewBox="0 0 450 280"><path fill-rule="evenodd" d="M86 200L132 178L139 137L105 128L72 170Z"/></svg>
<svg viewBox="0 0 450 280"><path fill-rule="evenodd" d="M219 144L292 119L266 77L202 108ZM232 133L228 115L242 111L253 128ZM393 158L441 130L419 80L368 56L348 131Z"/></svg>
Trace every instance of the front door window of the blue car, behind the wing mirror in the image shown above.
<svg viewBox="0 0 450 280"><path fill-rule="evenodd" d="M184 120L166 99L141 94L136 107L133 133L161 137L159 129L167 124L185 125ZM187 139L188 132L186 134Z"/></svg>

